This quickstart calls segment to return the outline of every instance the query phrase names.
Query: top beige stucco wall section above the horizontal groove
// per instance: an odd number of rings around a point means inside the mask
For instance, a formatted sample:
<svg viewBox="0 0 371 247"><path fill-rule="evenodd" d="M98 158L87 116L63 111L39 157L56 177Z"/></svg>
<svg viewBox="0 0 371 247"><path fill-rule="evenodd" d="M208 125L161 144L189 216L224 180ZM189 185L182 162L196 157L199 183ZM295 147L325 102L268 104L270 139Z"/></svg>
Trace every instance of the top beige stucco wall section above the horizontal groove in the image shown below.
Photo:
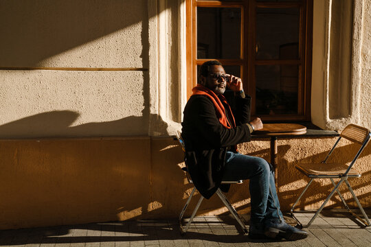
<svg viewBox="0 0 371 247"><path fill-rule="evenodd" d="M143 67L148 53L144 0L1 0L0 22L0 67Z"/></svg>

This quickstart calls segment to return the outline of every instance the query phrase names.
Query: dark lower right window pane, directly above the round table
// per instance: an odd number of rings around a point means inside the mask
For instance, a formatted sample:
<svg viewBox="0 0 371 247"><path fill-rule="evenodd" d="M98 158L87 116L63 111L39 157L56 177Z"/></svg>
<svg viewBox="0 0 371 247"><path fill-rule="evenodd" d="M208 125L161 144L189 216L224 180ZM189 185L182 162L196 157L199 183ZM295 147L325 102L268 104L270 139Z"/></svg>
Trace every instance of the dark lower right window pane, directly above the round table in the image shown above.
<svg viewBox="0 0 371 247"><path fill-rule="evenodd" d="M297 114L298 65L256 66L256 115Z"/></svg>

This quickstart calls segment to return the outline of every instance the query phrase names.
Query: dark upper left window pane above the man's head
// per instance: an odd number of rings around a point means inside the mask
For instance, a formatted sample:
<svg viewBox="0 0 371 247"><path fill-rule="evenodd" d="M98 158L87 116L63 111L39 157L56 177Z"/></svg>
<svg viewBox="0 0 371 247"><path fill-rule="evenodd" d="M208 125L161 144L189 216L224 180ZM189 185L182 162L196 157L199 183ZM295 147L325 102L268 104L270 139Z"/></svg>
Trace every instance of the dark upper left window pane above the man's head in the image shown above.
<svg viewBox="0 0 371 247"><path fill-rule="evenodd" d="M240 8L197 8L197 58L240 58Z"/></svg>

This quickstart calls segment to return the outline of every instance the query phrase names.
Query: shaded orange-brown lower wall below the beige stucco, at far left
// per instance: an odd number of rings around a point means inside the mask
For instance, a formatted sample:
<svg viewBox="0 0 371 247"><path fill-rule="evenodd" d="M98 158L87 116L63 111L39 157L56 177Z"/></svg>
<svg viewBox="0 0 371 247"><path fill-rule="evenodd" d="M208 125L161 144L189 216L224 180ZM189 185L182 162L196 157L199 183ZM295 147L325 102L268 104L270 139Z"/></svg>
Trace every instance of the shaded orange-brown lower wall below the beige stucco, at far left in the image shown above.
<svg viewBox="0 0 371 247"><path fill-rule="evenodd" d="M148 137L13 140L1 141L0 147L0 178L6 185L0 187L0 228L118 220L133 217L133 211L135 216L146 214Z"/></svg>

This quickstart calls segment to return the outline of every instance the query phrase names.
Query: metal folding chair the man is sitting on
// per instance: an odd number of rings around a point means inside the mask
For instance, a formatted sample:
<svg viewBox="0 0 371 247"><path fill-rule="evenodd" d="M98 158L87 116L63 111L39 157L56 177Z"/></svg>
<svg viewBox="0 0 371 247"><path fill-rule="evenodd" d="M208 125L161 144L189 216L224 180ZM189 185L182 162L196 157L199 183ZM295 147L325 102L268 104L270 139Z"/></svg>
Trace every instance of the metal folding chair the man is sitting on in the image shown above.
<svg viewBox="0 0 371 247"><path fill-rule="evenodd" d="M183 139L181 139L181 134L180 134L179 131L177 132L177 139L178 139L179 143L181 144L181 148L183 149L183 151L186 152L186 145L185 145ZM183 167L182 169L183 169L184 172L186 172L188 182L193 183L192 179L190 178L190 174L188 173L187 167ZM242 184L242 183L243 183L243 180L222 181L223 185L225 185L225 184L229 184L229 185L231 185L231 184ZM190 224L193 221L194 215L196 215L196 213L199 210L199 207L201 205L201 202L203 201L203 196L200 195L201 198L199 199L199 202L197 202L196 207L194 208L194 210L192 212L192 215L190 217L190 220L188 220L186 226L184 226L183 225L183 215L186 212L186 209L188 208L188 205L190 204L190 200L192 199L192 196L194 195L195 191L196 191L196 187L193 187L192 192L190 193L190 197L188 198L186 204L183 207L183 210L181 211L181 213L179 215L179 228L180 228L180 231L181 231L181 235L186 234L186 232L188 231L188 228L190 227ZM236 219L238 224L243 228L244 233L247 233L247 228L246 228L245 224L243 223L242 218L240 217L240 215L238 215L236 209L234 209L232 204L227 200L227 198L225 197L225 195L221 191L221 189L218 189L216 191L216 195L218 195L218 197L221 198L221 201L223 202L223 204L225 204L225 207L227 207L227 209L229 210L230 213L232 213L233 217Z"/></svg>

